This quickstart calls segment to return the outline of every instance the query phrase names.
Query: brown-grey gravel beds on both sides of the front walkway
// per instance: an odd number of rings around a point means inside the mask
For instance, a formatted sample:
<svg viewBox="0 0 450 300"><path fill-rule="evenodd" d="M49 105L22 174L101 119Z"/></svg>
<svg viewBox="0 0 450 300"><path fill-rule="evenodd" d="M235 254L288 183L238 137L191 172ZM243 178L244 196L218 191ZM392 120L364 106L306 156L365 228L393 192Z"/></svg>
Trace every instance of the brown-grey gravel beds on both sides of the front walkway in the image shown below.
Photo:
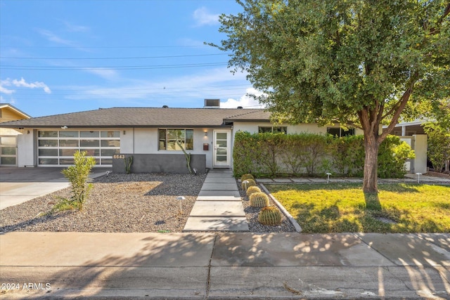
<svg viewBox="0 0 450 300"><path fill-rule="evenodd" d="M109 174L96 178L82 211L48 214L58 197L70 197L70 188L0 210L0 233L8 231L77 231L104 233L181 232L206 175ZM251 232L294 232L283 217L281 226L262 226L259 209L243 197ZM179 211L177 196L182 200ZM274 205L274 203L271 203Z"/></svg>

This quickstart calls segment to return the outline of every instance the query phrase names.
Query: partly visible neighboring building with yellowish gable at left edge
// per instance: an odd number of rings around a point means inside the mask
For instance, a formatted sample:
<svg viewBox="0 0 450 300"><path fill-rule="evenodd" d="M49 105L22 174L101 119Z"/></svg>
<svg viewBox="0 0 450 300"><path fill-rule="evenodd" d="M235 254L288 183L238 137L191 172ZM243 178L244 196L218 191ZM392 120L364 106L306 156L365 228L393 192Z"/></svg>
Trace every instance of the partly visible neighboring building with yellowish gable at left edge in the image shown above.
<svg viewBox="0 0 450 300"><path fill-rule="evenodd" d="M30 118L11 104L0 104L0 123ZM18 136L22 133L23 130L0 127L0 167L17 167Z"/></svg>

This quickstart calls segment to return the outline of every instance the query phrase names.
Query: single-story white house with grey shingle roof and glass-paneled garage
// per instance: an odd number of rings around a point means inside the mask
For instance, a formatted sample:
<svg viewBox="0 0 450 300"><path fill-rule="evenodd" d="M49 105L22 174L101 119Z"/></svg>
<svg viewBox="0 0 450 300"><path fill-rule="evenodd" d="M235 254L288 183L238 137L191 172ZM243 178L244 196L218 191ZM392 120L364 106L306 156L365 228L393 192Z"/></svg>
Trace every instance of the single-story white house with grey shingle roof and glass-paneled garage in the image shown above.
<svg viewBox="0 0 450 300"><path fill-rule="evenodd" d="M18 138L18 167L67 167L77 150L95 157L97 166L124 171L187 173L183 147L191 167L233 166L236 131L348 134L340 127L317 124L276 125L262 109L220 108L219 99L205 99L203 108L111 107L63 115L35 117L0 124L23 132ZM352 132L354 133L354 132Z"/></svg>

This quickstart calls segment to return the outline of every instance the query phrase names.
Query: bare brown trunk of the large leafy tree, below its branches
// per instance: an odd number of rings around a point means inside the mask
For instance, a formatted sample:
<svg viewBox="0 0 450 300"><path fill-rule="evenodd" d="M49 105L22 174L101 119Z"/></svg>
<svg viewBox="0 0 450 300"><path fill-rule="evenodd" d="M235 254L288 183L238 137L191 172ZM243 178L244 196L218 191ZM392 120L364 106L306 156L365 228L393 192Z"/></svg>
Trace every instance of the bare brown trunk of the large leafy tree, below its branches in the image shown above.
<svg viewBox="0 0 450 300"><path fill-rule="evenodd" d="M377 138L371 134L364 134L364 151L366 158L364 159L364 193L378 192L378 148L380 144Z"/></svg>

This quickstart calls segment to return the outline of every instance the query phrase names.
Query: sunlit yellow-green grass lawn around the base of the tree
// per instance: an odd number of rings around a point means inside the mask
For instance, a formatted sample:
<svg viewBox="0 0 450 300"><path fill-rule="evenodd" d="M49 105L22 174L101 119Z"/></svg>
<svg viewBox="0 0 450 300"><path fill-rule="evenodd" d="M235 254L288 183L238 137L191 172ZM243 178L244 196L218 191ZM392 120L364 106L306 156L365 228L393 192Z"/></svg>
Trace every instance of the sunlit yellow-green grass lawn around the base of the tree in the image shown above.
<svg viewBox="0 0 450 300"><path fill-rule="evenodd" d="M303 233L449 233L450 186L266 185Z"/></svg>

